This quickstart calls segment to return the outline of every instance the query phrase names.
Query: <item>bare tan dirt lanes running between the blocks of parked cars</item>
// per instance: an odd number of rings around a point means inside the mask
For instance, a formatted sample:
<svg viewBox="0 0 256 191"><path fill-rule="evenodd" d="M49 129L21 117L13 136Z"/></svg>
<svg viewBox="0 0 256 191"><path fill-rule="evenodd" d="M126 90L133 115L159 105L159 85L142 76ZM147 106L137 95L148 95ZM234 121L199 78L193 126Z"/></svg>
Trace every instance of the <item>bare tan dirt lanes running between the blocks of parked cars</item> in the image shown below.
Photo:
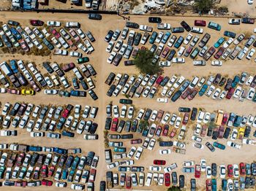
<svg viewBox="0 0 256 191"><path fill-rule="evenodd" d="M119 95L118 98L109 98L105 95L105 93L108 90L108 86L104 84L106 77L108 77L108 74L110 71L113 71L115 73L124 73L127 74L138 74L138 71L136 71L135 67L130 66L124 66L124 60L121 61L120 65L118 67L108 64L107 58L108 53L105 52L105 48L107 46L107 43L104 42L105 34L107 34L108 30L116 30L116 28L122 29L125 25L125 20L123 20L122 17L117 17L116 15L103 15L101 21L94 21L94 20L88 20L87 15L78 15L78 14L52 14L52 13L32 13L32 12L0 12L1 20L6 22L7 20L17 20L22 24L22 26L29 25L29 19L40 19L40 20L60 20L60 21L78 21L81 23L81 28L86 31L90 30L92 34L94 35L96 42L93 43L95 52L93 52L91 55L89 55L90 63L94 66L94 69L97 71L97 79L96 79L96 93L99 97L97 101L92 101L92 99L87 96L86 98L61 98L59 96L53 96L53 95L43 95L42 93L37 93L37 95L31 96L20 96L20 95L7 95L7 94L1 94L0 95L0 101L1 104L6 103L9 101L10 103L15 103L15 101L25 101L33 104L56 104L56 105L62 105L62 104L81 104L82 106L85 106L86 104L90 106L98 106L99 112L97 114L96 121L99 124L99 128L97 130L97 133L99 134L99 140L98 141L86 141L82 139L81 136L78 136L77 139L67 139L67 138L61 138L60 140L53 140L53 139L32 139L29 136L29 133L26 132L26 130L20 130L18 129L18 136L14 139L10 138L1 138L1 142L6 143L12 143L12 142L18 142L20 144L33 144L40 145L40 146L54 146L54 147L63 147L63 148L74 148L74 147L81 147L83 150L83 154L87 153L90 150L94 150L94 152L99 155L99 164L97 167L97 178L95 182L95 190L99 190L99 182L104 179L105 180L105 171L106 171L106 164L105 164L105 157L104 157L104 139L103 139L103 130L105 126L105 106L110 103L110 101L113 101L113 104L118 104L119 98L124 98L123 96ZM201 19L205 19L208 21L207 18L200 17ZM187 23L192 25L193 21L195 20L195 17L187 17ZM149 26L154 26L154 29L156 29L156 25L151 25L148 23L148 17L146 16L131 16L130 20L135 21L139 24L147 24ZM171 26L180 26L179 23L183 20L182 17L162 17L163 23L171 23ZM223 31L229 30L234 31L238 34L249 32L252 33L252 30L255 26L251 25L241 25L241 26L228 26L227 25L227 19L225 18L211 18L212 21L215 21L222 26L222 31L213 31L208 28L204 28L206 31L208 31L209 34L211 34L211 39L208 42L208 44L214 44L214 42L219 39L219 36L222 36ZM185 34L182 34L185 36ZM200 35L201 37L202 35ZM75 58L70 57L60 57L53 55L50 59L50 57L41 57L41 56L26 56L26 55L1 55L0 56L0 63L2 61L7 61L9 59L23 59L24 61L34 61L36 64L41 64L42 61L56 61L58 63L69 63L69 62L75 62ZM189 58L186 58L186 63L181 65L175 65L171 66L168 69L165 69L165 75L172 76L173 74L182 74L184 77L192 78L193 76L197 75L199 77L202 76L208 76L210 74L223 74L223 75L229 75L230 77L233 77L235 74L241 74L242 71L246 71L251 74L255 74L256 71L256 65L253 61L246 61L244 58L242 61L238 61L237 59L235 61L227 60L225 61L224 65L219 67L214 67L210 65L210 61L208 61L207 66L205 67L195 67L192 65L192 60ZM137 108L146 108L150 107L151 109L163 109L165 111L168 111L170 113L178 112L179 106L195 106L197 108L204 108L208 112L213 112L218 109L223 109L225 112L236 112L237 114L256 114L256 105L253 104L251 101L244 101L244 102L238 102L238 100L222 100L222 101L214 101L210 98L207 98L206 96L203 96L202 98L199 98L198 96L193 99L192 101L184 101L184 100L178 100L175 103L167 103L167 104L159 104L156 101L156 98L154 100L148 99L148 98L133 98L134 105ZM171 155L159 155L159 147L156 144L153 151L144 150L143 154L139 161L135 161L135 165L143 165L145 168L148 168L149 165L153 164L154 159L162 159L167 160L167 165L170 165L171 163L177 163L178 169L177 173L178 175L181 174L181 167L184 160L195 160L195 163L200 163L201 158L206 159L206 163L209 165L211 163L217 163L219 164L233 164L233 163L252 163L252 160L255 160L256 158L256 152L253 146L243 146L240 150L231 149L230 147L227 147L225 151L218 150L214 153L210 152L208 149L196 149L195 147L192 147L192 126L187 127L188 132L186 133L185 142L187 143L187 153L186 155L179 155L172 153ZM77 135L76 135L77 136ZM139 138L138 134L135 134L135 138ZM206 141L211 141L208 138L203 139L203 144L206 143ZM225 140L220 140L219 142L224 143ZM124 144L127 146L127 150L131 147L129 144L127 144L128 141L126 141ZM219 169L219 168L218 168ZM116 171L115 168L113 171ZM147 170L146 170L147 173ZM186 190L189 190L189 180L194 176L194 174L184 174L185 180L186 180ZM206 176L202 175L200 179L197 179L197 188L198 190L205 190L205 180ZM221 182L220 179L218 179L218 187L220 187ZM137 187L139 188L139 187ZM151 190L167 190L166 187L143 187L143 189L151 189ZM10 187L6 188L4 187L4 190L19 190L17 187ZM26 190L32 190L32 188ZM34 189L33 189L34 190ZM45 190L45 187L37 187L37 190ZM49 187L48 190L59 190L56 187ZM70 190L70 188L66 188L64 190Z"/></svg>

